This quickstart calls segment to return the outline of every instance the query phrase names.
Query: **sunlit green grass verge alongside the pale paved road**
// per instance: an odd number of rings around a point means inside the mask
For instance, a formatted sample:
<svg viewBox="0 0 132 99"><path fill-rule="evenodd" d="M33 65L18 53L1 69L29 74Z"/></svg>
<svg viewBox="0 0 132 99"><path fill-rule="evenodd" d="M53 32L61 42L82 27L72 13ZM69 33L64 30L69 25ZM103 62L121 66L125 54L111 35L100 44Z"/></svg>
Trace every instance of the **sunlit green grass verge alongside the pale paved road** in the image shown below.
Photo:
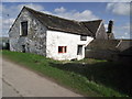
<svg viewBox="0 0 132 99"><path fill-rule="evenodd" d="M80 74L84 73L80 72L82 69L79 69L79 68L84 68L84 66L79 66L80 62L65 64L64 62L53 61L35 54L10 52L10 51L2 51L2 55L3 57L14 61L15 63L22 66L38 72L42 75L54 79L56 82L65 87L68 87L72 90L79 92L84 96L127 97L125 94L121 94L110 87L107 87L102 84L98 84L94 79L89 78L89 76L85 76ZM106 63L106 61L95 59L92 63L90 61L90 64L95 64L95 63ZM74 64L74 66L77 68L73 67L72 64ZM72 65L72 67L68 67L67 65L68 66ZM79 70L80 73L77 70Z"/></svg>

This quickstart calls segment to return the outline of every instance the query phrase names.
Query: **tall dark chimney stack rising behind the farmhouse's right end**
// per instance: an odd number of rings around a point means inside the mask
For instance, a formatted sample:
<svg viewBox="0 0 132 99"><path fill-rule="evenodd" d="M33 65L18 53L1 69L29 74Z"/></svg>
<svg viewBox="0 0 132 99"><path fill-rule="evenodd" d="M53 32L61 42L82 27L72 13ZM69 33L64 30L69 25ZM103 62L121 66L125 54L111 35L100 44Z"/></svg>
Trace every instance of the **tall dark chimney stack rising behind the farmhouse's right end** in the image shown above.
<svg viewBox="0 0 132 99"><path fill-rule="evenodd" d="M114 40L114 35L113 35L113 21L110 20L109 24L108 24L108 40Z"/></svg>

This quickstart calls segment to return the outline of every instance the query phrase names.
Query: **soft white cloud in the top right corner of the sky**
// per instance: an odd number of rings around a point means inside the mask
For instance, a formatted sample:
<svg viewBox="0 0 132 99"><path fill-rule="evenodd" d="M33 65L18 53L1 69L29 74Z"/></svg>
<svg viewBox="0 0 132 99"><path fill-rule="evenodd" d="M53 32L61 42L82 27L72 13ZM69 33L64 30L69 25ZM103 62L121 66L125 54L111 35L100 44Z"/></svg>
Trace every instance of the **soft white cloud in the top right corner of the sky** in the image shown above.
<svg viewBox="0 0 132 99"><path fill-rule="evenodd" d="M127 2L108 3L107 10L111 11L114 14L129 15L130 14L130 3L127 3Z"/></svg>

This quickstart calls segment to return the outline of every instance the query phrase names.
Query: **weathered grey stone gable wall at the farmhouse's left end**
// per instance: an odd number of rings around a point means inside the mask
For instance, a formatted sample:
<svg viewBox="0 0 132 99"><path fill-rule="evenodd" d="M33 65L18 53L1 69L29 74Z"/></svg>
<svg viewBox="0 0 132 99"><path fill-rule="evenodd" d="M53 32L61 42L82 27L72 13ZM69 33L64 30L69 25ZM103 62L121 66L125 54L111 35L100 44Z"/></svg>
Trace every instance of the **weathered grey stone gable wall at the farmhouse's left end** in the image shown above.
<svg viewBox="0 0 132 99"><path fill-rule="evenodd" d="M20 36L21 22L28 21L28 35ZM20 13L10 32L10 51L46 55L46 28L25 9Z"/></svg>

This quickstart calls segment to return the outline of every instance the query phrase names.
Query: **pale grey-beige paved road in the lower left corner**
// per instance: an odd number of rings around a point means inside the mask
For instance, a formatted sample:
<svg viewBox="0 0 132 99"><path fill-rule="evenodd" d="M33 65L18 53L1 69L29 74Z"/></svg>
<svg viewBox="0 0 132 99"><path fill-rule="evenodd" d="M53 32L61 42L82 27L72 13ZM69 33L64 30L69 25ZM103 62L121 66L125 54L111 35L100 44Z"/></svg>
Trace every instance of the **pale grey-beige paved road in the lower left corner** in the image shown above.
<svg viewBox="0 0 132 99"><path fill-rule="evenodd" d="M2 61L3 97L81 97L24 67Z"/></svg>

